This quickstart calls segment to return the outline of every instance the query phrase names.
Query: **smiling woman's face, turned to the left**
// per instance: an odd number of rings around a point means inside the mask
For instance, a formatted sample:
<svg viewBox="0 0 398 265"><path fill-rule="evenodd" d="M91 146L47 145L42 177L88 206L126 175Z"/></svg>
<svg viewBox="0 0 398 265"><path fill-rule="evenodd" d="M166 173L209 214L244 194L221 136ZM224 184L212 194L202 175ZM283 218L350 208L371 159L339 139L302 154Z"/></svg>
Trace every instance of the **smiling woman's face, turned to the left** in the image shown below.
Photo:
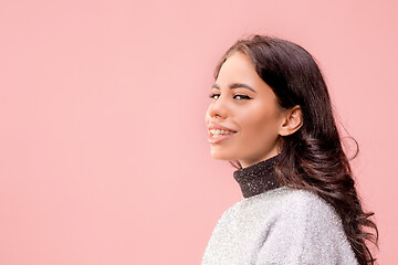
<svg viewBox="0 0 398 265"><path fill-rule="evenodd" d="M279 153L284 112L271 87L240 52L221 66L206 113L211 156L249 167Z"/></svg>

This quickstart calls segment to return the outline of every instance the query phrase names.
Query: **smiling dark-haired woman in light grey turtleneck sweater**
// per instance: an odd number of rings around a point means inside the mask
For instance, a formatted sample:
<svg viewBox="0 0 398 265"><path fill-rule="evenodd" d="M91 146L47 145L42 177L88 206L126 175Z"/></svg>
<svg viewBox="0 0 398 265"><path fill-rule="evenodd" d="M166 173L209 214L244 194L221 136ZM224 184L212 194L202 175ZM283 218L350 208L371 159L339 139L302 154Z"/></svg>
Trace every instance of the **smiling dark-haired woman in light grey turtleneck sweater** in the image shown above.
<svg viewBox="0 0 398 265"><path fill-rule="evenodd" d="M211 155L238 168L244 199L222 214L202 264L374 264L365 243L377 244L377 227L311 54L254 35L227 51L214 77Z"/></svg>

